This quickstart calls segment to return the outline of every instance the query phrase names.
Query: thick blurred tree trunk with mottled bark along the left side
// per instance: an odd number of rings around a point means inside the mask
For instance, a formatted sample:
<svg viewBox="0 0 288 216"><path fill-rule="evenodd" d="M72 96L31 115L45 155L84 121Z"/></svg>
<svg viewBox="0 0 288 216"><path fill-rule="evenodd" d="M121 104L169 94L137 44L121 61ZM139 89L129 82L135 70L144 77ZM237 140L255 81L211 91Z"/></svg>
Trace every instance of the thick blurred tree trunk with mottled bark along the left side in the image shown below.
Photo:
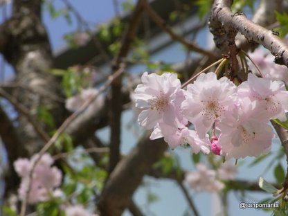
<svg viewBox="0 0 288 216"><path fill-rule="evenodd" d="M62 105L51 99L59 95L60 87L50 73L53 57L48 35L41 21L41 4L41 0L13 1L12 17L0 27L0 51L15 69L14 81L19 87L12 89L12 97L20 106L26 107L37 127L42 127L38 129L47 131L52 128L37 118L39 105L51 111L56 125L62 120ZM17 109L17 106L15 107ZM2 136L8 150L10 166L18 157L35 154L46 143L35 131L35 126L30 123L27 114L17 111L19 127L13 136L18 136L19 142L8 141L8 138ZM9 170L12 170L11 167ZM15 172L7 175L6 183L6 191L16 189Z"/></svg>

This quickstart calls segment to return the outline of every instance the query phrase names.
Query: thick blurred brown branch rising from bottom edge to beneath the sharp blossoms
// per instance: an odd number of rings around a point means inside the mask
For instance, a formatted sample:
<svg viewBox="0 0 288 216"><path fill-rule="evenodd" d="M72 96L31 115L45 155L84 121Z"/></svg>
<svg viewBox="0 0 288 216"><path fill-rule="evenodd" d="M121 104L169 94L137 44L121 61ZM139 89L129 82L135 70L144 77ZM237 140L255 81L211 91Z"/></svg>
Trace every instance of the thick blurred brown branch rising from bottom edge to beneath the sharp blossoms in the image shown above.
<svg viewBox="0 0 288 216"><path fill-rule="evenodd" d="M147 132L132 152L111 172L98 204L101 215L120 216L129 206L143 176L161 158L167 144L162 138L151 141L149 136L150 132Z"/></svg>

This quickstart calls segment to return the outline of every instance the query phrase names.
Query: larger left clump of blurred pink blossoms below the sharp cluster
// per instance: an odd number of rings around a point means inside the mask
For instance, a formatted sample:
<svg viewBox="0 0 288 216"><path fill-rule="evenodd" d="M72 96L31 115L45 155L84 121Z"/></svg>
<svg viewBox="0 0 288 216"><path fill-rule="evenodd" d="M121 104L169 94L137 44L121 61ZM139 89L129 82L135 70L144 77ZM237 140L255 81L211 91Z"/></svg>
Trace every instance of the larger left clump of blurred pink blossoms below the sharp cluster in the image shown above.
<svg viewBox="0 0 288 216"><path fill-rule="evenodd" d="M196 191L219 192L224 184L216 179L215 170L208 170L206 165L197 163L196 172L186 173L185 181Z"/></svg>

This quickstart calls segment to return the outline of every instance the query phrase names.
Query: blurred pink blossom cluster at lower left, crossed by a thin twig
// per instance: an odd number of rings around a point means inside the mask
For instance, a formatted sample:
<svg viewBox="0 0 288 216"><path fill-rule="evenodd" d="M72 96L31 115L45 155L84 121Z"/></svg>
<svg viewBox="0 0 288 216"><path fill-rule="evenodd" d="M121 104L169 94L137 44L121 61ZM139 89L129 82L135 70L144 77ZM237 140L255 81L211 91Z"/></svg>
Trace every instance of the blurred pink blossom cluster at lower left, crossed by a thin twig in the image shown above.
<svg viewBox="0 0 288 216"><path fill-rule="evenodd" d="M37 160L38 154L35 154L30 160L17 159L14 162L14 167L21 177L20 188L18 190L19 199L24 200L28 190L30 171L33 163ZM28 203L35 204L39 201L47 201L51 197L60 197L62 191L58 189L62 181L62 173L55 166L50 154L44 154L39 159L35 169L33 170L32 178L30 179L30 190L28 194Z"/></svg>

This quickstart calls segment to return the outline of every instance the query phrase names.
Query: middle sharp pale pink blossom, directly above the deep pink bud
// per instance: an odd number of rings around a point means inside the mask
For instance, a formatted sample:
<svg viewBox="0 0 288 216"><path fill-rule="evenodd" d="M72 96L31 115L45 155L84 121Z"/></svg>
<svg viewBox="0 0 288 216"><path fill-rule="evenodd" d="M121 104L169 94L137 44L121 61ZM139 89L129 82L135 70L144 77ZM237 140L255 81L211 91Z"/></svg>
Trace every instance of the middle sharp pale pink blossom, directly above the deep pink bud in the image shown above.
<svg viewBox="0 0 288 216"><path fill-rule="evenodd" d="M195 125L203 138L215 120L234 108L236 87L227 78L217 80L215 73L202 73L187 87L186 100L181 108L183 115Z"/></svg>

